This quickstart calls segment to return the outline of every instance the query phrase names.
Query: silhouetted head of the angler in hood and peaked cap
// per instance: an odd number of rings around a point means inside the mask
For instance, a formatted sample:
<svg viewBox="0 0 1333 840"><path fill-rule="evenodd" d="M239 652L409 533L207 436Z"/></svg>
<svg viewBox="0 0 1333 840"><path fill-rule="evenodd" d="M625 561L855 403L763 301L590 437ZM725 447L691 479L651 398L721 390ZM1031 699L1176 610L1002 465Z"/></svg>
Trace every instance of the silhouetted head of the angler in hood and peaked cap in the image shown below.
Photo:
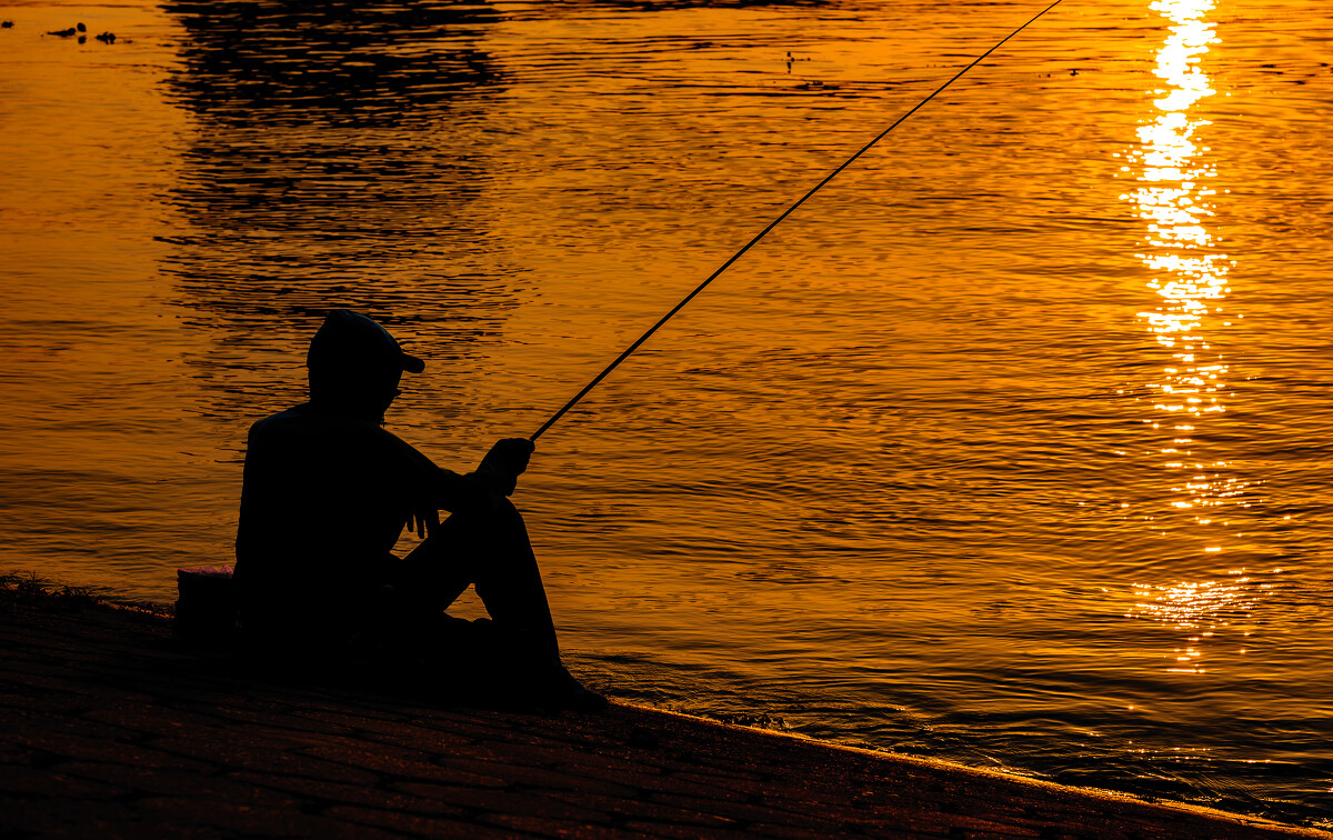
<svg viewBox="0 0 1333 840"><path fill-rule="evenodd" d="M425 363L364 315L333 309L311 339L305 356L311 401L359 417L383 420L399 395L403 371L420 373Z"/></svg>

